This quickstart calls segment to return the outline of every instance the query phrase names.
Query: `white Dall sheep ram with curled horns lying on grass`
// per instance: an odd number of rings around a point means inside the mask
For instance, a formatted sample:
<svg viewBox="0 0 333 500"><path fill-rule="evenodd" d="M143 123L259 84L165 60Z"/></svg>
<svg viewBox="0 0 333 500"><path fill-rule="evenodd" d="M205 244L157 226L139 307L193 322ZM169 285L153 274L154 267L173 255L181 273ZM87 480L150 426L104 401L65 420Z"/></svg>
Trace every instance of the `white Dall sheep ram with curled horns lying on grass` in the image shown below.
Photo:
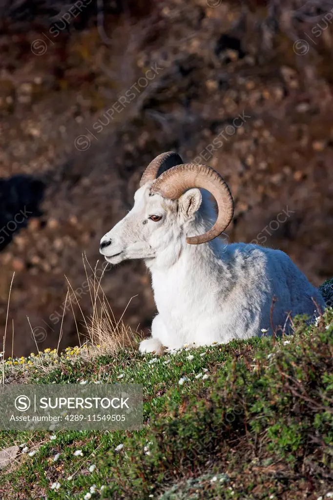
<svg viewBox="0 0 333 500"><path fill-rule="evenodd" d="M151 272L158 314L140 352L289 331L290 317L323 310L320 292L284 252L216 238L232 216L230 190L209 166L183 164L174 152L149 163L133 208L100 241L111 264L143 258Z"/></svg>

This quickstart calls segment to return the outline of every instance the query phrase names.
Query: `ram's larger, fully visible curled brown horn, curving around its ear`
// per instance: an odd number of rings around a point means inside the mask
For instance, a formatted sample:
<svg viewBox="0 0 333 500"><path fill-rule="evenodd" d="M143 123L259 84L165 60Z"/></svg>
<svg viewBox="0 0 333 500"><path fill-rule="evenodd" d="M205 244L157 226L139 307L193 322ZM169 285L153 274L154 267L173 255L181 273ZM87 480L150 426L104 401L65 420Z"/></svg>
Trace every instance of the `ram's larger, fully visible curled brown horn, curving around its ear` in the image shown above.
<svg viewBox="0 0 333 500"><path fill-rule="evenodd" d="M204 234L186 237L187 243L206 243L229 225L233 216L233 199L226 182L213 168L195 163L176 165L162 173L151 186L152 193L164 198L178 199L192 187L207 189L215 198L218 215L214 225Z"/></svg>

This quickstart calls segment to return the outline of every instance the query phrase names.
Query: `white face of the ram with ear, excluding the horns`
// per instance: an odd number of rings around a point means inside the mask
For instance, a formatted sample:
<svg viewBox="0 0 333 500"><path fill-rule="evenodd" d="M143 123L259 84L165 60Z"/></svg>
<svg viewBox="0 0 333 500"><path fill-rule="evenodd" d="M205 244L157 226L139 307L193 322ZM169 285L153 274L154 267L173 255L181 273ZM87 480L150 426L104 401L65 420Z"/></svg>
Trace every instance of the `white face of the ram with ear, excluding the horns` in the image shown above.
<svg viewBox="0 0 333 500"><path fill-rule="evenodd" d="M199 189L189 189L178 200L149 195L151 182L134 194L134 206L100 240L100 253L111 264L130 258L154 258L182 237L201 204Z"/></svg>

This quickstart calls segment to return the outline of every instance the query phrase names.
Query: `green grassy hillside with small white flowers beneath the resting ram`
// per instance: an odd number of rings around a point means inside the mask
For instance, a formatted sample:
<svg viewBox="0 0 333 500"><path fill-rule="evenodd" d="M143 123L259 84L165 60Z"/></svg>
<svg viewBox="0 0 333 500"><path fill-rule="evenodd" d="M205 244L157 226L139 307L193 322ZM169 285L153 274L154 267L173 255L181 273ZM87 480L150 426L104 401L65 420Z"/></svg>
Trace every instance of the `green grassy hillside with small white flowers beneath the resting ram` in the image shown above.
<svg viewBox="0 0 333 500"><path fill-rule="evenodd" d="M0 448L22 451L1 472L0 498L333 496L332 354L329 308L275 343L252 338L159 358L84 347L6 360L7 382L143 383L144 428L2 431Z"/></svg>

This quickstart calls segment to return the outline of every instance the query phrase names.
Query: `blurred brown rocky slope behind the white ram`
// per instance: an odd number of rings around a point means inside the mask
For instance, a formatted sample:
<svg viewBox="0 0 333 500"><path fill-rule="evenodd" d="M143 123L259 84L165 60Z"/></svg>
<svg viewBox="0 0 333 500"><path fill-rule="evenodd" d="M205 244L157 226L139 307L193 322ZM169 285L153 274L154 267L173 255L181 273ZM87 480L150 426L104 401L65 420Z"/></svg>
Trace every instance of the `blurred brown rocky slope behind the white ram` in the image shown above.
<svg viewBox="0 0 333 500"><path fill-rule="evenodd" d="M27 316L40 349L57 344L65 276L73 290L82 288L82 253L93 267L100 237L130 208L142 170L162 151L184 160L201 153L222 173L235 200L230 241L249 242L260 233L259 242L286 251L316 285L332 276L333 26L327 13L333 4L74 5L0 2L2 332L15 271L8 354L12 327L15 355L36 350ZM155 77L140 86L151 66L158 68ZM135 97L119 106L130 92ZM112 105L120 111L107 123ZM246 121L232 131L239 113ZM98 119L103 125L96 132ZM222 145L207 152L221 132ZM286 221L271 222L283 210ZM115 317L130 301L124 320L147 330L155 307L143 263L107 269L101 284ZM88 317L91 300L86 288L78 293L73 311L83 331L80 309ZM62 330L61 346L77 343L71 308Z"/></svg>

